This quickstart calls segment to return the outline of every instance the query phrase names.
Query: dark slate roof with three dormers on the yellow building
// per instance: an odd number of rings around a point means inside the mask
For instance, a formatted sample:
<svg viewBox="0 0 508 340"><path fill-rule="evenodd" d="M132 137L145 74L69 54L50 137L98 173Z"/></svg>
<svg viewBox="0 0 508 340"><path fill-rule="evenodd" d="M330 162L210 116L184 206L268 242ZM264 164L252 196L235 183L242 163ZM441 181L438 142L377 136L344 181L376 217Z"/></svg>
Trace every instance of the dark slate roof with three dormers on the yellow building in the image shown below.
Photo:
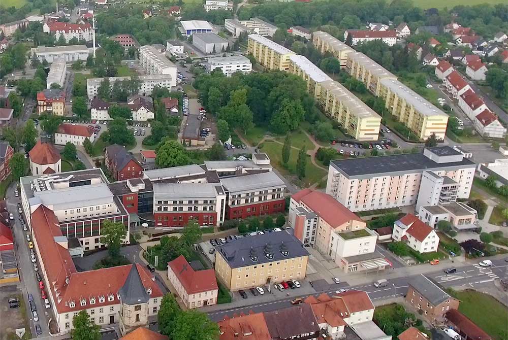
<svg viewBox="0 0 508 340"><path fill-rule="evenodd" d="M288 255L282 255L281 249L287 250ZM217 250L217 253L222 255L231 268L309 255L307 250L303 248L303 244L295 236L285 231L242 237L239 240L217 247ZM250 258L251 251L258 257L257 261L252 261ZM266 251L273 253L272 259L265 255Z"/></svg>

